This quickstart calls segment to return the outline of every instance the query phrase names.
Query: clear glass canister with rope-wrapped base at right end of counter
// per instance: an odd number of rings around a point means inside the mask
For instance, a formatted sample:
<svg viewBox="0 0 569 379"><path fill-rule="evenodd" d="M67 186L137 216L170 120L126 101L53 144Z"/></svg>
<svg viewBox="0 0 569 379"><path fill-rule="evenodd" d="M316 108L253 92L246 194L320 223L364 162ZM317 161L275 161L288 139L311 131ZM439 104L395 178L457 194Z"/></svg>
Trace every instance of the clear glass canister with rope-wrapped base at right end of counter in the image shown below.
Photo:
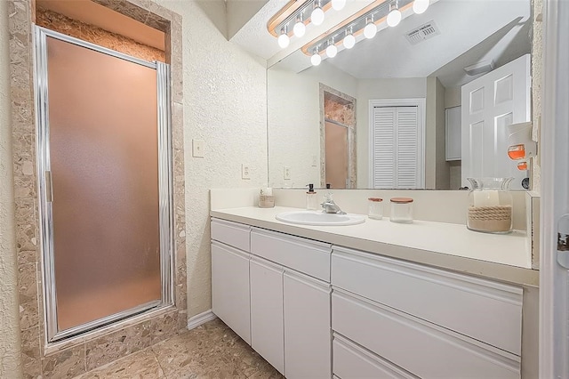
<svg viewBox="0 0 569 379"><path fill-rule="evenodd" d="M512 195L509 183L514 178L467 178L469 192L467 228L485 233L512 231Z"/></svg>

